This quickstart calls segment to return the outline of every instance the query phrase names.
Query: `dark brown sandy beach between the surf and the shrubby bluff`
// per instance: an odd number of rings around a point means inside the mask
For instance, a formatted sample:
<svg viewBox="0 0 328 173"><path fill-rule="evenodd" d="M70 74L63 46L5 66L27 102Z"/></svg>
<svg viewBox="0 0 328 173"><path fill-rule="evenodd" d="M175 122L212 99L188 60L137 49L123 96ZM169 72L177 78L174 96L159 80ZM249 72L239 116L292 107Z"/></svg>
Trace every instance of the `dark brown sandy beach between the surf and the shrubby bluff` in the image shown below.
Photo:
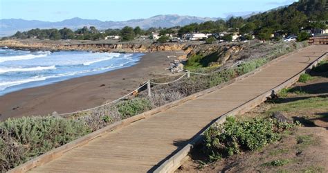
<svg viewBox="0 0 328 173"><path fill-rule="evenodd" d="M46 86L15 91L0 96L0 120L41 115L57 111L66 113L116 100L145 80L172 75L165 71L175 52L146 53L134 66L98 75L74 78ZM104 85L104 86L103 86Z"/></svg>

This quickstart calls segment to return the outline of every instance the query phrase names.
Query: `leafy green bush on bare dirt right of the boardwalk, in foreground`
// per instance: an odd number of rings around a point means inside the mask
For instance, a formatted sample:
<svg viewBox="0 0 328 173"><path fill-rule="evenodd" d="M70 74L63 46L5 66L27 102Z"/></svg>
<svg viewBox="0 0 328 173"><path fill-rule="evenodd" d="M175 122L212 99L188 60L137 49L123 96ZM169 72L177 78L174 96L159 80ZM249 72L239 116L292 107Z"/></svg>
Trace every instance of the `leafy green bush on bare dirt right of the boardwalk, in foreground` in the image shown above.
<svg viewBox="0 0 328 173"><path fill-rule="evenodd" d="M222 125L212 125L204 133L206 152L214 156L233 156L242 150L261 149L280 140L280 132L295 124L271 118L239 121L228 117Z"/></svg>

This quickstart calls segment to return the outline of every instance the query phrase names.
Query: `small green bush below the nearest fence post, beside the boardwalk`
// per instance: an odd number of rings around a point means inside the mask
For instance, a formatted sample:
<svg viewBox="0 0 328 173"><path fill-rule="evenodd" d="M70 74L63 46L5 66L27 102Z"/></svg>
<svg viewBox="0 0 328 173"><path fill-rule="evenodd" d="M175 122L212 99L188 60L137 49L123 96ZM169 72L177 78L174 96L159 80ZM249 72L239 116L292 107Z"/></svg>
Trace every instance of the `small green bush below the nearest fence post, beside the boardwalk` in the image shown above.
<svg viewBox="0 0 328 173"><path fill-rule="evenodd" d="M116 108L121 118L125 119L152 109L152 103L147 98L133 98L119 102Z"/></svg>

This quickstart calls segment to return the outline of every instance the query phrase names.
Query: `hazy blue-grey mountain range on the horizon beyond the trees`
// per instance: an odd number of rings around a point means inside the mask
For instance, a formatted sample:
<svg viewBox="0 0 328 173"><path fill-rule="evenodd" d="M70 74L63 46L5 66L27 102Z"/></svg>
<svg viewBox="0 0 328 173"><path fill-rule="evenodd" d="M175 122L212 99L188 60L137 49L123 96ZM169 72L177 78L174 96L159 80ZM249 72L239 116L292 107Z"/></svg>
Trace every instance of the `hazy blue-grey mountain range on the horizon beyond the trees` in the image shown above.
<svg viewBox="0 0 328 173"><path fill-rule="evenodd" d="M57 22L24 19L0 19L0 37L13 35L18 30L25 31L33 28L45 29L66 27L73 30L82 28L83 26L95 26L95 28L98 29L123 28L124 26L140 26L140 28L168 28L172 26L185 26L192 23L201 23L204 21L215 21L217 19L219 18L180 15L157 15L147 19L132 19L128 21L100 21L95 19L81 19L78 17Z"/></svg>

